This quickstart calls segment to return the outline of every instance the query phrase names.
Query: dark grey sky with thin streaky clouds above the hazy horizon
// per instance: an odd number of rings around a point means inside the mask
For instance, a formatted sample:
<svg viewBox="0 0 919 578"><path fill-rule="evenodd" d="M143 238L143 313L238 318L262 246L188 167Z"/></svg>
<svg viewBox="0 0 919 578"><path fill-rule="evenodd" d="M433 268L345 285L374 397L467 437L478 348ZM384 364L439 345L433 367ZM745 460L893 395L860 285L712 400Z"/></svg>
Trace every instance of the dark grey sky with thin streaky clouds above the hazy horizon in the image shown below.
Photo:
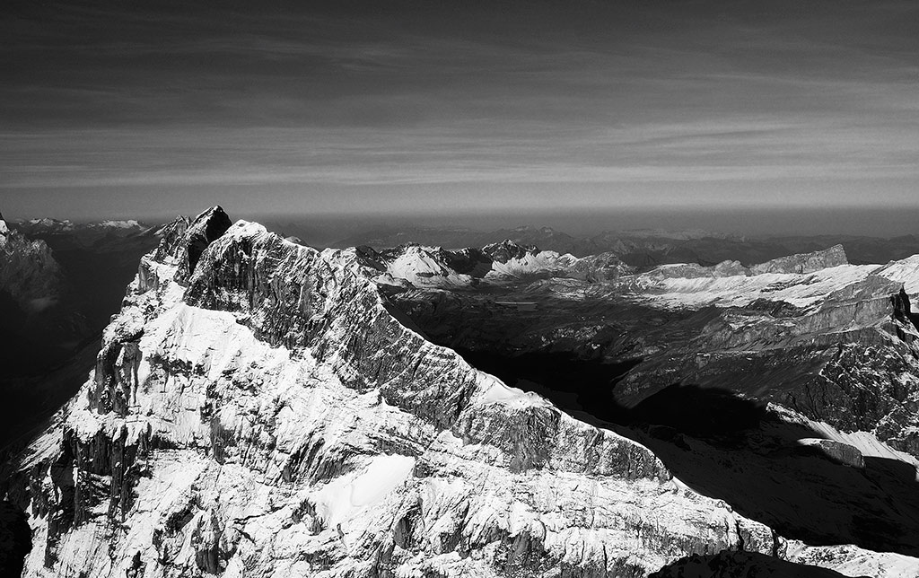
<svg viewBox="0 0 919 578"><path fill-rule="evenodd" d="M917 30L914 0L7 0L0 210L919 210Z"/></svg>

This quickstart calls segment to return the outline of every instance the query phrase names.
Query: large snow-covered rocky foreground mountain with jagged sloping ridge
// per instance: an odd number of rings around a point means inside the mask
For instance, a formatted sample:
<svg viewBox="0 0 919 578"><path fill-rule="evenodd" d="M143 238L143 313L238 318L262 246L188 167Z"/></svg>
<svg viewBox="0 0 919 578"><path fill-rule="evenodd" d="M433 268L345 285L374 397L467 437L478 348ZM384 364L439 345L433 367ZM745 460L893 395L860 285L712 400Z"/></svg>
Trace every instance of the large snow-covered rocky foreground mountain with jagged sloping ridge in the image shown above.
<svg viewBox="0 0 919 578"><path fill-rule="evenodd" d="M781 538L471 368L354 252L227 224L165 232L90 380L7 466L25 575L644 576L720 550L907 575Z"/></svg>

